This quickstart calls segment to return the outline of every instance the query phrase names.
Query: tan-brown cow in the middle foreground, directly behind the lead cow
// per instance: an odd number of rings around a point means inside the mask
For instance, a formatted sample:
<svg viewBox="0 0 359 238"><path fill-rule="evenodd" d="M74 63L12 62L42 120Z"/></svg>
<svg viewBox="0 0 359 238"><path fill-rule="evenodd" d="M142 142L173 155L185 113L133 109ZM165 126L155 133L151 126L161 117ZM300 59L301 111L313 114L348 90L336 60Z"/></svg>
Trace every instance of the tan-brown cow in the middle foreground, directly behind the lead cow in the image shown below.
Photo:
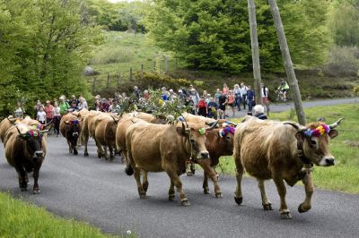
<svg viewBox="0 0 359 238"><path fill-rule="evenodd" d="M126 132L126 147L130 166L135 172L138 193L145 198L148 188L148 172L166 172L171 179L169 200L174 200L174 186L180 191L182 206L188 199L182 189L180 174L186 171L188 157L197 160L209 157L206 150L206 129L196 124L186 128L170 124L134 123ZM140 174L143 171L143 183Z"/></svg>

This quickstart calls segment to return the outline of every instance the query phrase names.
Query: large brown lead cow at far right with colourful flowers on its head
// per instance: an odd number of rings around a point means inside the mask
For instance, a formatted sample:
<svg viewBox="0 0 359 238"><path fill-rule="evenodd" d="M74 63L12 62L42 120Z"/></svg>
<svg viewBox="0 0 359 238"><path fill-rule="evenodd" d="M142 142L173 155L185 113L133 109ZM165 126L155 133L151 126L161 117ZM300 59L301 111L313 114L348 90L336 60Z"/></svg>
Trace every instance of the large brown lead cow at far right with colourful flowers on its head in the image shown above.
<svg viewBox="0 0 359 238"><path fill-rule="evenodd" d="M236 165L237 189L234 200L241 204L241 179L243 169L258 180L258 187L265 210L272 209L267 200L265 180L273 179L280 196L281 218L292 218L285 203L285 183L293 186L302 180L306 198L299 212L311 209L313 184L311 166L334 166L334 157L328 148L329 139L337 136L333 130L337 123L309 123L305 127L296 123L263 121L247 115L237 126L234 135L233 157Z"/></svg>

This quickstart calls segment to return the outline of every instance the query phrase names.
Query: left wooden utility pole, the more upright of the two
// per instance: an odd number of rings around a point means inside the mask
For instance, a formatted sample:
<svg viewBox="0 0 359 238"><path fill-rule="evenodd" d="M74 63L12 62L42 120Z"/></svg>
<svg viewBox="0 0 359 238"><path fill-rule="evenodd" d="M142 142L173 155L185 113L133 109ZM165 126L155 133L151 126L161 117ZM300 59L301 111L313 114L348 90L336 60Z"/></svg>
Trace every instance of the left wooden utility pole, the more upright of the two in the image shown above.
<svg viewBox="0 0 359 238"><path fill-rule="evenodd" d="M254 89L256 92L256 104L259 105L262 104L262 96L260 92L260 83L262 80L260 78L256 5L254 4L254 0L248 0L248 12L250 15L250 42L252 48Z"/></svg>

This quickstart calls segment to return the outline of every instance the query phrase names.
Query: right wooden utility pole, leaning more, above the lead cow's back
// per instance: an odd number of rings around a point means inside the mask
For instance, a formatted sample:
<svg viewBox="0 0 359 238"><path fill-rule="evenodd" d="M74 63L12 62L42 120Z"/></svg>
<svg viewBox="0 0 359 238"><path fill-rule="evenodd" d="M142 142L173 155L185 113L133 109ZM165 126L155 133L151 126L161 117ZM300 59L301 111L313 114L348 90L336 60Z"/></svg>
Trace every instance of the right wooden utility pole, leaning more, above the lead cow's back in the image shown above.
<svg viewBox="0 0 359 238"><path fill-rule="evenodd" d="M276 4L276 0L268 0L268 2L269 2L270 10L272 12L273 19L274 19L275 25L276 25L276 34L278 36L279 46L280 46L283 61L285 64L286 76L288 78L289 85L291 85L291 89L293 91L295 112L298 117L298 122L300 124L304 125L306 123L306 119L305 119L305 113L304 113L304 110L302 107L301 92L298 87L297 78L295 77L291 54L289 53L288 44L286 42L285 30L283 28L283 23L282 23L282 19L280 17L279 8L278 8L278 5Z"/></svg>

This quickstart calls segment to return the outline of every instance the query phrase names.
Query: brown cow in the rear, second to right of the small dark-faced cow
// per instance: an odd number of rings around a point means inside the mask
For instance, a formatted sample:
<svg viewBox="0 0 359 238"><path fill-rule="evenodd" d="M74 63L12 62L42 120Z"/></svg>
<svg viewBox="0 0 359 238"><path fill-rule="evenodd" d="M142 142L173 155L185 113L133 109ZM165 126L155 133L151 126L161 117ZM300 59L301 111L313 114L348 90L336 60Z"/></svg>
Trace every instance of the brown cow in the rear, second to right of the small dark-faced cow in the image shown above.
<svg viewBox="0 0 359 238"><path fill-rule="evenodd" d="M101 115L95 117L95 120L97 120L98 123L95 126L94 139L96 143L104 147L105 158L112 161L115 158L116 128L118 126L119 117L117 115ZM109 148L109 155L107 148Z"/></svg>

